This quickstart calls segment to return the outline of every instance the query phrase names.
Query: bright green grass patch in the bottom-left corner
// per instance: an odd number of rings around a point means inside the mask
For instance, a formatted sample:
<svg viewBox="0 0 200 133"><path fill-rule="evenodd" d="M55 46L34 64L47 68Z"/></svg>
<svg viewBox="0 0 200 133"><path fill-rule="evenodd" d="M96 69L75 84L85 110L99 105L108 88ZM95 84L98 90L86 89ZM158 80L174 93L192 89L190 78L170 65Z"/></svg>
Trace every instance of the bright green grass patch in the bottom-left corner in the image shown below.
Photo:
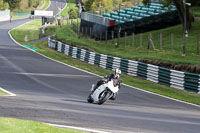
<svg viewBox="0 0 200 133"><path fill-rule="evenodd" d="M83 133L70 129L62 129L35 121L0 117L1 133Z"/></svg>

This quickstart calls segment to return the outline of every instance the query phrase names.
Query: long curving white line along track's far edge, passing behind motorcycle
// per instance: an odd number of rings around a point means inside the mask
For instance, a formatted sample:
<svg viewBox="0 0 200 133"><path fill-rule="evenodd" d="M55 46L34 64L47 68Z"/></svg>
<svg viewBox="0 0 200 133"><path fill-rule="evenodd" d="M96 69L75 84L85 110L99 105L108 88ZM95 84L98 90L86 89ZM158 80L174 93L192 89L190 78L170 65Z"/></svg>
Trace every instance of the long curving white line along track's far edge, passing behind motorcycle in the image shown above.
<svg viewBox="0 0 200 133"><path fill-rule="evenodd" d="M27 23L29 23L29 22L27 22ZM26 24L26 23L25 23L25 24ZM20 25L20 26L23 26L23 25L24 25L24 24L22 24L22 25ZM18 27L20 27L20 26L18 26ZM15 27L15 28L13 28L13 29L11 29L11 30L14 30L14 29L16 29L16 28L17 28L17 27ZM16 44L20 45L21 47L24 47L23 45L21 45L20 43L18 43L17 41L15 41L15 39L11 36L11 34L10 34L10 31L11 31L11 30L8 31L8 34L9 34L10 38L11 38ZM24 47L24 48L29 49L29 48L27 48L27 47ZM31 49L29 49L29 50L31 50ZM54 59L52 59L52 58L49 58L49 57L47 57L47 56L45 56L45 55L42 55L42 54L38 53L37 51L34 51L34 50L31 50L31 51L33 51L33 52L35 52L35 53L37 53L37 54L39 54L39 55L41 55L41 56L43 56L43 57L49 59L49 60L58 62L58 63L60 63L60 64L69 66L69 67L71 67L71 68L77 69L77 70L82 71L82 72L86 72L86 73L88 73L88 74L95 75L95 76L98 76L98 77L103 78L103 76L97 75L97 74L95 74L95 73L91 73L91 72L88 72L88 71L86 71L86 70L82 70L82 69L80 69L80 68L77 68L77 67L74 67L74 66L65 64L65 63L63 63L63 62L54 60ZM66 55L66 56L67 56L67 55ZM152 94L152 95L156 95L156 96L160 96L160 97L163 97L163 98L167 98L167 99L170 99L170 100L174 100L174 101L177 101L177 102L180 102L180 103L185 103L185 104L188 104L188 105L193 105L193 106L196 106L196 107L200 107L200 105L197 105L197 104L192 104L192 103L184 102L184 101L177 100L177 99L174 99L174 98L171 98L171 97L167 97L167 96L163 96L163 95L156 94L156 93L153 93L153 92L149 92L149 91L146 91L146 90L142 90L142 89L140 89L140 88L136 88L136 87L133 87L133 86L124 84L124 83L123 83L123 85L125 85L125 86L127 86L127 87L130 87L130 88L133 88L133 89L136 89L136 90L139 90L139 91L143 91L143 92L145 92L145 93Z"/></svg>

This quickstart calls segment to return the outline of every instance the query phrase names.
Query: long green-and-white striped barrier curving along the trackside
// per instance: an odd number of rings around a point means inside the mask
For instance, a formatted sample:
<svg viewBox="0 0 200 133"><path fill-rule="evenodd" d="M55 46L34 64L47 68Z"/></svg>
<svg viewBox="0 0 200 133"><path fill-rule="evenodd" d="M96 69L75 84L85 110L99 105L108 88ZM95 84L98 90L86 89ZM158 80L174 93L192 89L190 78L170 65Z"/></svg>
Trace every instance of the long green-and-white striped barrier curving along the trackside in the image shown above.
<svg viewBox="0 0 200 133"><path fill-rule="evenodd" d="M180 72L138 61L94 53L50 38L48 39L48 47L92 65L106 69L120 68L123 73L131 76L200 94L199 74Z"/></svg>

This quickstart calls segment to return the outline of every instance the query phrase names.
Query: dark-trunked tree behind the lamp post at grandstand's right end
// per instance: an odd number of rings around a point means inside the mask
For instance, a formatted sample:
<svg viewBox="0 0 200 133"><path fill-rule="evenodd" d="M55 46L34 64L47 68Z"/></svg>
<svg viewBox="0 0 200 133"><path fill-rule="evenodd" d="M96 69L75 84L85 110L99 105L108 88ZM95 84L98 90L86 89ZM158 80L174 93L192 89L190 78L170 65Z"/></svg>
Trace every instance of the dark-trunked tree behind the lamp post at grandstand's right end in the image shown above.
<svg viewBox="0 0 200 133"><path fill-rule="evenodd" d="M151 0L143 0L144 4L149 3ZM162 3L164 6L166 7L170 7L171 4L174 4L176 6L176 9L179 13L179 18L180 21L182 23L182 25L184 26L184 14L185 14L185 8L184 8L184 3L183 0L159 0L160 3ZM192 16L192 13L189 12L189 7L186 6L186 29L190 30L192 28L192 21L194 21L194 18Z"/></svg>

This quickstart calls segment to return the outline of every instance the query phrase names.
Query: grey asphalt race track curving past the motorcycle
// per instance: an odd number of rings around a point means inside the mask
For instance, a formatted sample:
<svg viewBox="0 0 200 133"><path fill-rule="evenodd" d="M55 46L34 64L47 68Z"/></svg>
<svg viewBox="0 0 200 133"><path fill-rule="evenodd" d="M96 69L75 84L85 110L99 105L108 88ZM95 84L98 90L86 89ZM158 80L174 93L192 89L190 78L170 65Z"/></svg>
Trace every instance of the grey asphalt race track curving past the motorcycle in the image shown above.
<svg viewBox="0 0 200 133"><path fill-rule="evenodd" d="M58 3L52 1L48 10L55 10ZM13 42L8 31L28 21L0 22L0 87L17 94L0 96L0 117L113 133L200 132L200 107L124 85L115 101L103 105L87 103L91 85L100 77Z"/></svg>

